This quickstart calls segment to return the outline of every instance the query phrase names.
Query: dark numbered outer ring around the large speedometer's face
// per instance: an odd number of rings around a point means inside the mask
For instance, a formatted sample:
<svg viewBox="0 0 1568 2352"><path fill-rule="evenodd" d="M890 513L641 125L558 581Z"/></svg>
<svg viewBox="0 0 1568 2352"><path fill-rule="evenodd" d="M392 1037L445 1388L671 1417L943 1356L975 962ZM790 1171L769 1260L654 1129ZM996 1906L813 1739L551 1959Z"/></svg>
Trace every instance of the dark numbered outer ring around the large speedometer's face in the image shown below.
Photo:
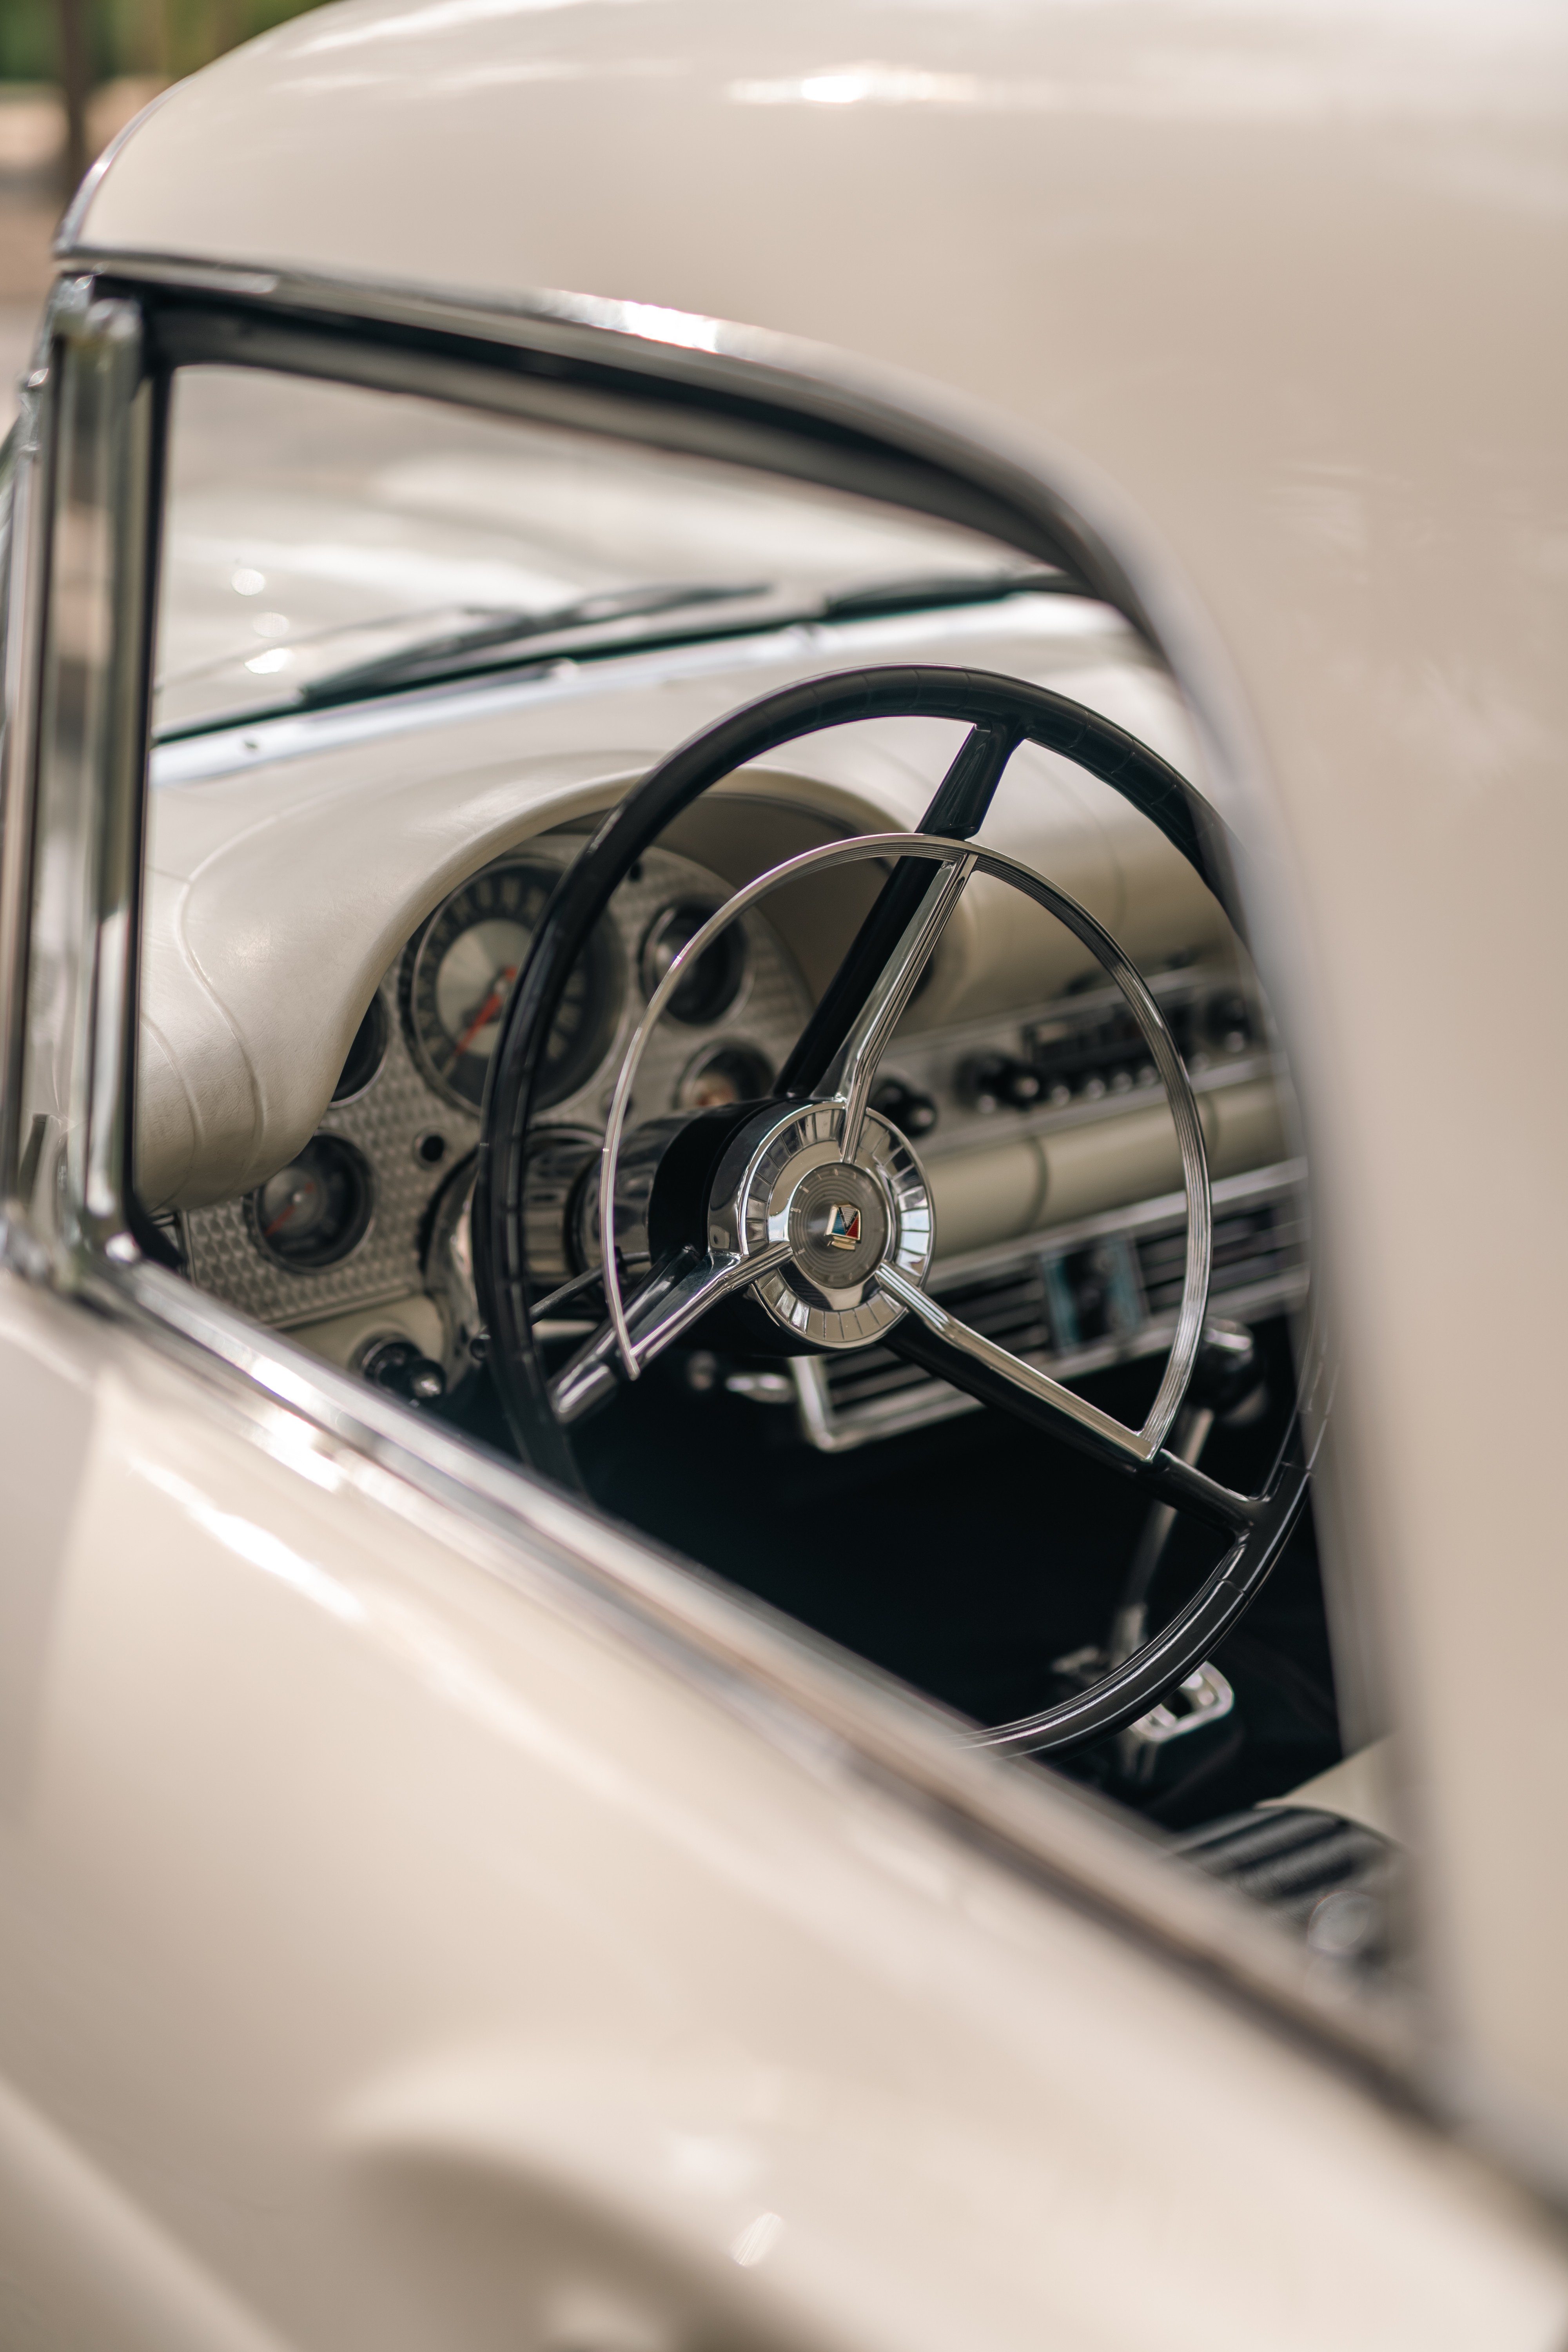
<svg viewBox="0 0 1568 2352"><path fill-rule="evenodd" d="M463 1061L480 1063L477 1094L454 1082L449 1056L437 1061L433 1035L440 1033L442 1040L449 1037L435 1004L440 967L458 938L463 938L465 931L477 929L480 922L515 922L531 938L534 922L559 882L559 863L541 856L538 851L512 851L503 858L494 858L489 866L482 866L477 873L458 882L456 889L447 891L442 903L425 915L418 931L404 948L397 971L397 1009L409 1054L414 1056L425 1084L440 1094L442 1101L451 1103L456 1110L465 1110L470 1117L480 1115L484 1101L487 1056L463 1056ZM529 889L538 891L531 901L531 922L517 913L515 901L510 906L505 903L505 884L512 877L527 877ZM484 903L484 894L489 891L501 894L498 906ZM473 917L451 927L449 936L444 936L454 910L461 908L463 901L473 903ZM625 955L614 922L602 922L592 931L588 948L583 950L583 988L588 993L583 1040L574 1040L574 1044L559 1056L555 1073L541 1089L541 1108L564 1103L581 1094L604 1065L614 1044L625 997ZM569 990L576 985L578 981L574 976Z"/></svg>

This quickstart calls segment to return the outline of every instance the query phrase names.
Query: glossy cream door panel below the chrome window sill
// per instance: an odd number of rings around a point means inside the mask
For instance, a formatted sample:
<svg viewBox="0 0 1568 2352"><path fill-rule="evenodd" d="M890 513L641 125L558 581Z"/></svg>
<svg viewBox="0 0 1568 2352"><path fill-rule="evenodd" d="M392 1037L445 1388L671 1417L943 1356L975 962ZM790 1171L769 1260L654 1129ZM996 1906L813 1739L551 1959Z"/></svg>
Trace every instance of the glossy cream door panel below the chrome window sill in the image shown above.
<svg viewBox="0 0 1568 2352"><path fill-rule="evenodd" d="M12 1463L80 1446L7 1496L0 2260L56 2326L7 2343L1561 2340L1519 2199L569 1550L454 1545L12 1277L0 1371Z"/></svg>

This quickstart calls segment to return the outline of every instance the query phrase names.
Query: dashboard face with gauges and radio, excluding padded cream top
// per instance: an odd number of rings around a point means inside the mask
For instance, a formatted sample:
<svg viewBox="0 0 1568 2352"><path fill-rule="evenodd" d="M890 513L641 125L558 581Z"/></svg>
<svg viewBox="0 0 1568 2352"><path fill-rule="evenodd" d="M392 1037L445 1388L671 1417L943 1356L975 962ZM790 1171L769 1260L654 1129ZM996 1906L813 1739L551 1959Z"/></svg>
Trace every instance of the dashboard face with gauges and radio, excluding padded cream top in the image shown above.
<svg viewBox="0 0 1568 2352"><path fill-rule="evenodd" d="M381 1385L430 1402L468 1378L477 1310L465 1204L505 995L581 833L534 837L451 889L404 941L353 1035L310 1141L244 1195L165 1216L190 1279ZM529 1181L538 1294L595 1263L595 1178L618 1061L675 953L729 896L696 858L649 849L592 936L545 1058ZM1194 1080L1215 1183L1215 1301L1260 1315L1302 1294L1274 1056L1234 957L1173 955L1152 988ZM752 908L675 993L644 1054L632 1122L762 1096L813 1002ZM1140 1033L1084 976L980 1021L912 1016L875 1105L919 1148L936 1214L936 1296L1058 1374L1168 1345L1185 1207L1175 1136ZM567 1305L555 1338L588 1329ZM788 1406L844 1451L971 1399L886 1350L783 1367L686 1359Z"/></svg>

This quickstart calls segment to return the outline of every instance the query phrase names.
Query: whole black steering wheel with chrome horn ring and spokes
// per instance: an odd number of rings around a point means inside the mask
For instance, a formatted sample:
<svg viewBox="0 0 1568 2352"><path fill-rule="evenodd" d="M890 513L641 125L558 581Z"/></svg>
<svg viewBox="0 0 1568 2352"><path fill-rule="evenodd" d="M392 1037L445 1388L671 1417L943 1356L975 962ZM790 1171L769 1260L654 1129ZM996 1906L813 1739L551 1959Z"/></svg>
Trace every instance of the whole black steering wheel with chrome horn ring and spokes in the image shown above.
<svg viewBox="0 0 1568 2352"><path fill-rule="evenodd" d="M534 1336L524 1249L529 1152L545 1044L571 969L637 858L701 793L748 760L823 727L875 717L961 720L969 734L917 833L827 842L736 891L682 948L623 1056L597 1169L607 1317L555 1376ZM1300 1404L1262 1494L1232 1494L1166 1446L1204 1343L1213 1211L1192 1082L1166 1018L1117 941L1016 858L976 847L1006 762L1032 741L1088 769L1197 868L1241 929L1215 811L1110 720L1016 677L867 668L780 687L670 753L562 875L505 1009L473 1195L480 1312L517 1446L581 1486L569 1430L698 1322L729 1317L778 1352L884 1345L1046 1437L1065 1439L1227 1541L1218 1566L1152 1639L1088 1689L976 1733L990 1748L1065 1752L1145 1715L1192 1675L1255 1599L1307 1494ZM865 858L891 873L769 1101L658 1120L625 1136L632 1082L661 1011L712 941L785 882ZM992 875L1067 924L1117 983L1164 1080L1182 1155L1187 1261L1175 1341L1150 1416L1126 1428L1039 1367L950 1315L924 1287L933 1221L919 1157L870 1094L882 1054L971 875ZM609 1209L604 1204L611 1204ZM646 1272L628 1291L635 1263ZM562 1294L557 1291L555 1298Z"/></svg>

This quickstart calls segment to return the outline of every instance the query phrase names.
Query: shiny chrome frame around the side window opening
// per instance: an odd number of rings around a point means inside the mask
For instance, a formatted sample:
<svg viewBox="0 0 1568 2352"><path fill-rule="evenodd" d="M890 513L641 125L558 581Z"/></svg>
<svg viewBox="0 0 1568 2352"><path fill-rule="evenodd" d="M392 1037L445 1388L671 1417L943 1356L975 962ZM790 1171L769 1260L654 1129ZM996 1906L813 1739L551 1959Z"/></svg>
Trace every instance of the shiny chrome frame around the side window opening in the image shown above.
<svg viewBox="0 0 1568 2352"><path fill-rule="evenodd" d="M134 315L134 334L129 334ZM169 320L176 332L169 332ZM242 353L235 343L240 329ZM129 334L129 341L127 341ZM125 365L129 343L136 365ZM113 343L122 365L110 365ZM113 256L63 278L45 318L19 435L12 630L5 647L0 769L0 1265L195 1371L214 1414L284 1461L327 1454L386 1508L552 1606L609 1623L813 1771L870 1780L1058 1900L1182 1969L1258 2023L1349 2067L1401 2107L1425 2103L1408 2004L1328 1980L1251 1905L1178 1872L1110 1809L1025 1764L964 1748L940 1708L858 1665L719 1578L614 1526L451 1430L334 1371L275 1331L205 1298L146 1254L129 1197L136 1037L136 924L148 767L150 628L158 560L160 402L155 369L193 358L329 374L571 421L651 445L703 449L947 513L1037 557L1067 562L1086 590L1157 640L1147 600L1110 543L1020 463L952 423L889 405L853 376L802 374L712 322L630 303L541 296L449 303L418 289L193 270ZM527 365L522 365L527 362ZM16 1098L26 1025L40 703L56 659L45 616L71 492L73 386L99 367L92 456L113 543L99 595L106 675L99 706L120 734L92 736L94 823L82 828L85 908L78 1011L82 1138L68 1216L40 1235L16 1200ZM139 407L141 402L141 407ZM597 405L595 405L597 402ZM80 419L78 419L80 423ZM115 470L118 454L120 470ZM108 459L108 463L106 463ZM846 470L849 468L849 470ZM858 470L856 470L858 468ZM1211 866L1229 844L1204 809ZM9 1110L5 1110L9 1105Z"/></svg>

